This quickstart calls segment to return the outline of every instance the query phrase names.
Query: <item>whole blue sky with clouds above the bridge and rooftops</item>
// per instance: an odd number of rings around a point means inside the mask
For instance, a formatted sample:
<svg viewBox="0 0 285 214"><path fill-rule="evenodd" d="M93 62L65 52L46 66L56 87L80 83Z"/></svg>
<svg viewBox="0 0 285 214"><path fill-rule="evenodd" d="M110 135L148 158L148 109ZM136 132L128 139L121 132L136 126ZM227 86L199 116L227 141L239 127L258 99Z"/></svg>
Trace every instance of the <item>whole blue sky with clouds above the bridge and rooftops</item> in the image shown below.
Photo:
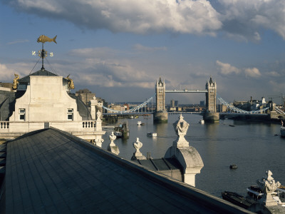
<svg viewBox="0 0 285 214"><path fill-rule="evenodd" d="M155 82L204 89L225 101L285 96L284 0L0 0L0 81L45 68L109 103L143 102ZM38 63L37 63L38 61ZM167 93L166 103L204 93Z"/></svg>

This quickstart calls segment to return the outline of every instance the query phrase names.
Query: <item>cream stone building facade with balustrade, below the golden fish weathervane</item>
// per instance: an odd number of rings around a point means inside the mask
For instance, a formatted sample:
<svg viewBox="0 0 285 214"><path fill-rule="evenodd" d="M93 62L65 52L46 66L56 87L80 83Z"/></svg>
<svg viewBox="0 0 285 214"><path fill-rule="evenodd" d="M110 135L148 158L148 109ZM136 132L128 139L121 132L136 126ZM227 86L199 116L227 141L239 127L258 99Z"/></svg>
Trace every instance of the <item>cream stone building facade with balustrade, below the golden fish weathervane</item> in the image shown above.
<svg viewBox="0 0 285 214"><path fill-rule="evenodd" d="M58 128L88 141L102 142L99 118L70 91L70 78L41 69L19 78L16 90L1 103L0 138L16 138L42 128ZM3 97L3 96L2 96ZM1 99L0 99L1 100ZM93 108L95 111L95 108ZM5 111L4 111L5 110ZM94 115L95 113L93 113Z"/></svg>

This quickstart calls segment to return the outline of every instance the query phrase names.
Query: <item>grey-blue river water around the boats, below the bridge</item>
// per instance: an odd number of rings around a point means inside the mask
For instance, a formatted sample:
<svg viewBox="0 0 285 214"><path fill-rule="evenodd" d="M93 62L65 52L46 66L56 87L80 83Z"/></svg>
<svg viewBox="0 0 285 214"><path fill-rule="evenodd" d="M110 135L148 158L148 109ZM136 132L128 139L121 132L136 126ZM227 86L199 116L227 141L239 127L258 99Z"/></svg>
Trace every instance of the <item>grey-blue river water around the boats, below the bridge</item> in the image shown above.
<svg viewBox="0 0 285 214"><path fill-rule="evenodd" d="M220 120L219 123L200 124L202 116L183 114L185 121L190 123L185 138L199 152L204 168L196 175L196 187L221 198L224 190L241 195L246 194L249 185L256 185L256 180L262 178L266 170L271 170L272 177L285 185L285 138L279 134L280 125L249 121ZM120 149L119 156L130 160L135 152L133 142L140 138L143 146L140 152L152 158L162 158L167 148L172 146L177 138L172 123L179 115L169 115L168 123L153 124L152 116L135 119L120 119L117 124L128 120L130 138L116 139L115 144ZM137 126L142 121L145 126ZM116 124L108 124L114 126ZM229 126L234 125L234 126ZM157 137L147 137L147 132L156 132ZM111 130L108 129L102 148L107 148ZM229 165L236 164L238 168L231 170Z"/></svg>

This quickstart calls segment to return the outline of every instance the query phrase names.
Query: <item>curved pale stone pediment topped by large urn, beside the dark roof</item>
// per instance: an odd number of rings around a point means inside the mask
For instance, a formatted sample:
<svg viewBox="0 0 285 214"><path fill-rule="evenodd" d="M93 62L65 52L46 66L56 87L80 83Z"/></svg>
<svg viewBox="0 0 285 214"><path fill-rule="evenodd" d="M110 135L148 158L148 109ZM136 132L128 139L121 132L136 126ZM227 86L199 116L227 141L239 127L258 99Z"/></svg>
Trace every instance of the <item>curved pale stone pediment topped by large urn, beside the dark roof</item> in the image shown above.
<svg viewBox="0 0 285 214"><path fill-rule="evenodd" d="M183 120L182 115L179 121L173 123L173 126L177 139L173 141L173 146L168 148L165 158L175 158L182 165L183 181L195 186L195 175L200 173L204 163L196 148L189 146L189 142L185 139L189 123Z"/></svg>

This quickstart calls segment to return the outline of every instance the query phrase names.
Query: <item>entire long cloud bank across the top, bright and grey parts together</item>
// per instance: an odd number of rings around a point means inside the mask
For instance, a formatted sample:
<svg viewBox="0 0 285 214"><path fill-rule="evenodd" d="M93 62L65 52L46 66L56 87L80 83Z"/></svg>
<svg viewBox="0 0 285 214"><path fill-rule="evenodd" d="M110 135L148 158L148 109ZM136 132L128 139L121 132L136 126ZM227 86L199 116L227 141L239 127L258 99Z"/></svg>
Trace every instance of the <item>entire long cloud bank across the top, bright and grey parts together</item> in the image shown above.
<svg viewBox="0 0 285 214"><path fill-rule="evenodd" d="M18 11L94 30L212 36L223 31L241 41L260 41L260 32L271 29L285 39L284 0L11 0L4 3Z"/></svg>

